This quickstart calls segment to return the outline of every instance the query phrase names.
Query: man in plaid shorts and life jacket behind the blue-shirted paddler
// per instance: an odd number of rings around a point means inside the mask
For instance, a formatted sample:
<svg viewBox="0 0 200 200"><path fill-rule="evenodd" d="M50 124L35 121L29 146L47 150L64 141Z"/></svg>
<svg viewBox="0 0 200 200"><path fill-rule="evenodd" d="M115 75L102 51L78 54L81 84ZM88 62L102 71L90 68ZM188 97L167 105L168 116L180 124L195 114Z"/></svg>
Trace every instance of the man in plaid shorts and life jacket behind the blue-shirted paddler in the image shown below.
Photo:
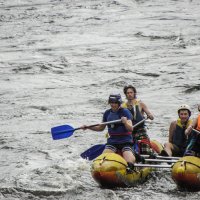
<svg viewBox="0 0 200 200"><path fill-rule="evenodd" d="M127 101L122 104L122 107L128 108L130 110L131 114L133 115L133 125L143 120L145 114L147 115L147 118L151 120L154 119L153 114L149 111L146 104L137 99L137 91L135 87L133 87L132 85L125 86L124 94L126 95ZM148 155L153 154L150 144L150 138L147 135L147 131L145 128L145 122L134 128L132 135L134 141L137 141L135 143L135 146L138 153ZM137 146L139 146L139 148L137 148Z"/></svg>

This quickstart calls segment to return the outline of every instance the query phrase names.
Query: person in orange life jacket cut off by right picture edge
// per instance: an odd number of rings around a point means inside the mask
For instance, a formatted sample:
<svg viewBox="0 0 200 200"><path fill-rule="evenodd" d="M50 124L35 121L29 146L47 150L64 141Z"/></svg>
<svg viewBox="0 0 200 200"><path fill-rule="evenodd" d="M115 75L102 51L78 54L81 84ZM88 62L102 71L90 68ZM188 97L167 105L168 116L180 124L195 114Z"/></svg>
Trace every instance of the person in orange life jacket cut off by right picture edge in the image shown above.
<svg viewBox="0 0 200 200"><path fill-rule="evenodd" d="M200 112L200 105L198 106ZM185 130L188 137L185 156L200 157L200 114L193 120L192 124Z"/></svg>

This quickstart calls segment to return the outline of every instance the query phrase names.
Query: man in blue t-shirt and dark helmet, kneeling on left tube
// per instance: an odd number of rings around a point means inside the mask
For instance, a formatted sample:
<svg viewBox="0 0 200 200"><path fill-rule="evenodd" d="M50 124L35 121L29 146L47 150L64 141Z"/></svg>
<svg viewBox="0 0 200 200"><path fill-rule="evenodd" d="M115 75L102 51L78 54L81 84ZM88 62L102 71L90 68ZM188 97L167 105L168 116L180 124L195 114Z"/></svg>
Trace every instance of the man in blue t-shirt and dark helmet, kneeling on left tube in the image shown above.
<svg viewBox="0 0 200 200"><path fill-rule="evenodd" d="M106 110L103 114L103 122L113 121L121 119L122 122L110 124L108 126L107 144L103 153L116 153L122 152L123 158L128 164L127 171L132 171L134 163L136 161L133 146L133 137L131 132L133 131L132 126L132 115L128 109L121 108L122 98L120 94L113 94L109 96L108 103L110 109ZM100 124L95 127L88 129L93 131L103 131L106 125ZM85 130L86 126L82 126Z"/></svg>

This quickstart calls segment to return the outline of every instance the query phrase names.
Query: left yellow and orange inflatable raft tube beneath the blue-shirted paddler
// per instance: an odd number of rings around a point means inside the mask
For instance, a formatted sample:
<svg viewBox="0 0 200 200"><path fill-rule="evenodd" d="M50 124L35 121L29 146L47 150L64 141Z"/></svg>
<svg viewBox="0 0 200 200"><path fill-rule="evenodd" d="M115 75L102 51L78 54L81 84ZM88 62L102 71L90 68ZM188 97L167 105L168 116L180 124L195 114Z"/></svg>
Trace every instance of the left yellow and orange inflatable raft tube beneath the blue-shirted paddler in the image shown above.
<svg viewBox="0 0 200 200"><path fill-rule="evenodd" d="M118 154L104 153L97 157L91 167L94 180L102 187L133 186L144 181L152 171L151 168L140 168L131 173L126 172L127 163Z"/></svg>

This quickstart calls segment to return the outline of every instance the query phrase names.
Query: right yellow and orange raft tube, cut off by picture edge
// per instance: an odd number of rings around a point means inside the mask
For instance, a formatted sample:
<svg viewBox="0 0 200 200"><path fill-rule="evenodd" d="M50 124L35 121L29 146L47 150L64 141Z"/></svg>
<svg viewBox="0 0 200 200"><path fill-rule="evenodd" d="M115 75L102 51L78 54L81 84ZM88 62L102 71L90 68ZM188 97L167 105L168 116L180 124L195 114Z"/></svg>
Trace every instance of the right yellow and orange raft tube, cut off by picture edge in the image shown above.
<svg viewBox="0 0 200 200"><path fill-rule="evenodd" d="M188 190L200 190L200 158L185 156L172 168L172 178L178 187Z"/></svg>

